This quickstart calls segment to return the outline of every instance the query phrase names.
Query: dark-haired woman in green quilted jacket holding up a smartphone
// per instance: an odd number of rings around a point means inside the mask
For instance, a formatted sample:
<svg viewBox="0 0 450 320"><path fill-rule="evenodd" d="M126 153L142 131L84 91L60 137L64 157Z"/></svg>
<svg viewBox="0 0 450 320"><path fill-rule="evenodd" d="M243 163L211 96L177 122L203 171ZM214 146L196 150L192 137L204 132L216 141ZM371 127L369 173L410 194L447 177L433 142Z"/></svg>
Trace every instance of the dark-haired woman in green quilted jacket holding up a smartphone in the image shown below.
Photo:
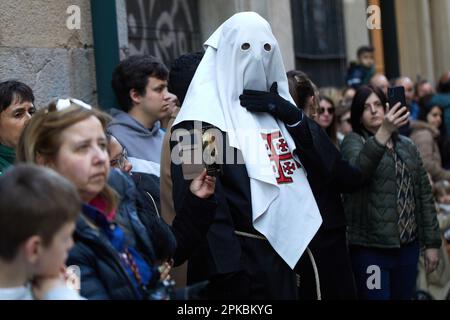
<svg viewBox="0 0 450 320"><path fill-rule="evenodd" d="M351 106L353 132L341 152L364 179L344 196L350 256L361 299L411 299L419 252L427 272L441 244L436 208L419 151L399 135L406 106L390 106L379 88L360 87ZM369 279L370 278L370 279Z"/></svg>

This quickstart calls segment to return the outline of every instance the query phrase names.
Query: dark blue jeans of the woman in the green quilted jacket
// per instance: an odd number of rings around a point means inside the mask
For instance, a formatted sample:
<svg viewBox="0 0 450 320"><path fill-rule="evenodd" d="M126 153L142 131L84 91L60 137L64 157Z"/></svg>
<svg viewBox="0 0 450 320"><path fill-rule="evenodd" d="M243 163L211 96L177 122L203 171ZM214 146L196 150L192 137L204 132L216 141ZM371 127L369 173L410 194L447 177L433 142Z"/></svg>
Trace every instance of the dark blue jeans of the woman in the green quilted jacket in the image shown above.
<svg viewBox="0 0 450 320"><path fill-rule="evenodd" d="M358 297L365 300L410 300L414 295L419 243L399 249L350 246Z"/></svg>

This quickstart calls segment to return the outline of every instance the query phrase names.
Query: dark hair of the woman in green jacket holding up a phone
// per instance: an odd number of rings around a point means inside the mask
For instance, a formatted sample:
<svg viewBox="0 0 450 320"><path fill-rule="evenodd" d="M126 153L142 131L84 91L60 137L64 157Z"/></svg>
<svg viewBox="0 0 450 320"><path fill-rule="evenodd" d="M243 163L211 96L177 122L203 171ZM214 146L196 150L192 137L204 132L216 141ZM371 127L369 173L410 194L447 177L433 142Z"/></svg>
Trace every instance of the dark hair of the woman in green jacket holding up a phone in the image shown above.
<svg viewBox="0 0 450 320"><path fill-rule="evenodd" d="M352 122L352 129L354 132L362 135L363 133L363 125L361 123L361 117L364 112L364 104L366 103L367 98L372 94L375 93L378 98L381 101L381 104L383 105L384 110L386 111L386 96L383 93L383 91L378 88L371 85L363 85L356 90L355 97L352 101L351 106L351 122Z"/></svg>

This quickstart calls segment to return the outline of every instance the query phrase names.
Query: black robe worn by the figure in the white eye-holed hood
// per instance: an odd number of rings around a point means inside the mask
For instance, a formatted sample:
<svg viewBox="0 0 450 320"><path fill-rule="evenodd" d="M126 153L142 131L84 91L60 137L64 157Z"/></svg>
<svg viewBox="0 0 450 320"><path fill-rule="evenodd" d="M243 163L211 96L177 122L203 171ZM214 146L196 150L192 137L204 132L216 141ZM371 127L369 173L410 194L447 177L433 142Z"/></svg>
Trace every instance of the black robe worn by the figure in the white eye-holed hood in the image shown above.
<svg viewBox="0 0 450 320"><path fill-rule="evenodd" d="M182 122L172 129L191 130L193 122ZM288 130L296 135L296 144L311 145L306 121ZM222 132L223 154L242 154L229 146ZM177 142L171 142L173 150ZM298 148L298 146L297 146ZM239 163L243 163L242 161ZM209 280L207 298L215 299L297 299L296 272L275 252L267 240L239 236L234 231L262 236L252 223L250 180L245 164L224 163L217 178L218 201L215 219L205 241L189 258L188 283ZM175 211L182 210L190 180L184 180L182 166L172 162ZM301 208L297 208L301 210ZM288 223L288 222L287 222ZM299 230L301 232L301 230Z"/></svg>

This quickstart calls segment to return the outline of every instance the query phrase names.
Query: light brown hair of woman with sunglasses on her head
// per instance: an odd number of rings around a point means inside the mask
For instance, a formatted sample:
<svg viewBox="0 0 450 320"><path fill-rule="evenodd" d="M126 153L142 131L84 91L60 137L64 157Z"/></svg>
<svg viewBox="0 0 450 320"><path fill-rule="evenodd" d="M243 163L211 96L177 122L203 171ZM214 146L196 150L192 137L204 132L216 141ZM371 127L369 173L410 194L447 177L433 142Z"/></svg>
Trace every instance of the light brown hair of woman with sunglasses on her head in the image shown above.
<svg viewBox="0 0 450 320"><path fill-rule="evenodd" d="M57 111L56 103L50 103L48 107L39 110L25 126L17 146L17 161L38 163L38 158L54 161L63 142L62 132L91 116L101 122L103 130L106 129L110 117L98 109L87 109L71 101L70 107ZM99 196L106 200L108 211L117 208L118 195L107 184Z"/></svg>

